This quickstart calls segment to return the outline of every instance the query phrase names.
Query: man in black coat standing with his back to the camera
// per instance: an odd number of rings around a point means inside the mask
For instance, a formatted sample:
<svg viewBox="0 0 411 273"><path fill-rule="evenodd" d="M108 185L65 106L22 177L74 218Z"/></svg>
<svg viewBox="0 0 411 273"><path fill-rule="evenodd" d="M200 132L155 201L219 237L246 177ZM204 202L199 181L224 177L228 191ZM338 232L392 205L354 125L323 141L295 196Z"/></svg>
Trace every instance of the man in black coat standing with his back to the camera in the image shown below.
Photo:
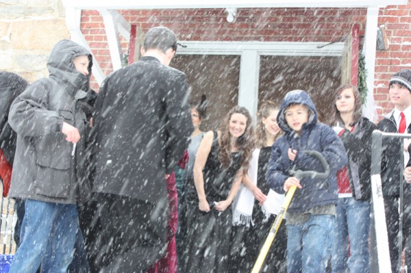
<svg viewBox="0 0 411 273"><path fill-rule="evenodd" d="M109 75L97 96L82 218L91 272L142 272L166 250L165 178L192 132L186 75L169 67L176 49L170 29L150 29L141 60Z"/></svg>

